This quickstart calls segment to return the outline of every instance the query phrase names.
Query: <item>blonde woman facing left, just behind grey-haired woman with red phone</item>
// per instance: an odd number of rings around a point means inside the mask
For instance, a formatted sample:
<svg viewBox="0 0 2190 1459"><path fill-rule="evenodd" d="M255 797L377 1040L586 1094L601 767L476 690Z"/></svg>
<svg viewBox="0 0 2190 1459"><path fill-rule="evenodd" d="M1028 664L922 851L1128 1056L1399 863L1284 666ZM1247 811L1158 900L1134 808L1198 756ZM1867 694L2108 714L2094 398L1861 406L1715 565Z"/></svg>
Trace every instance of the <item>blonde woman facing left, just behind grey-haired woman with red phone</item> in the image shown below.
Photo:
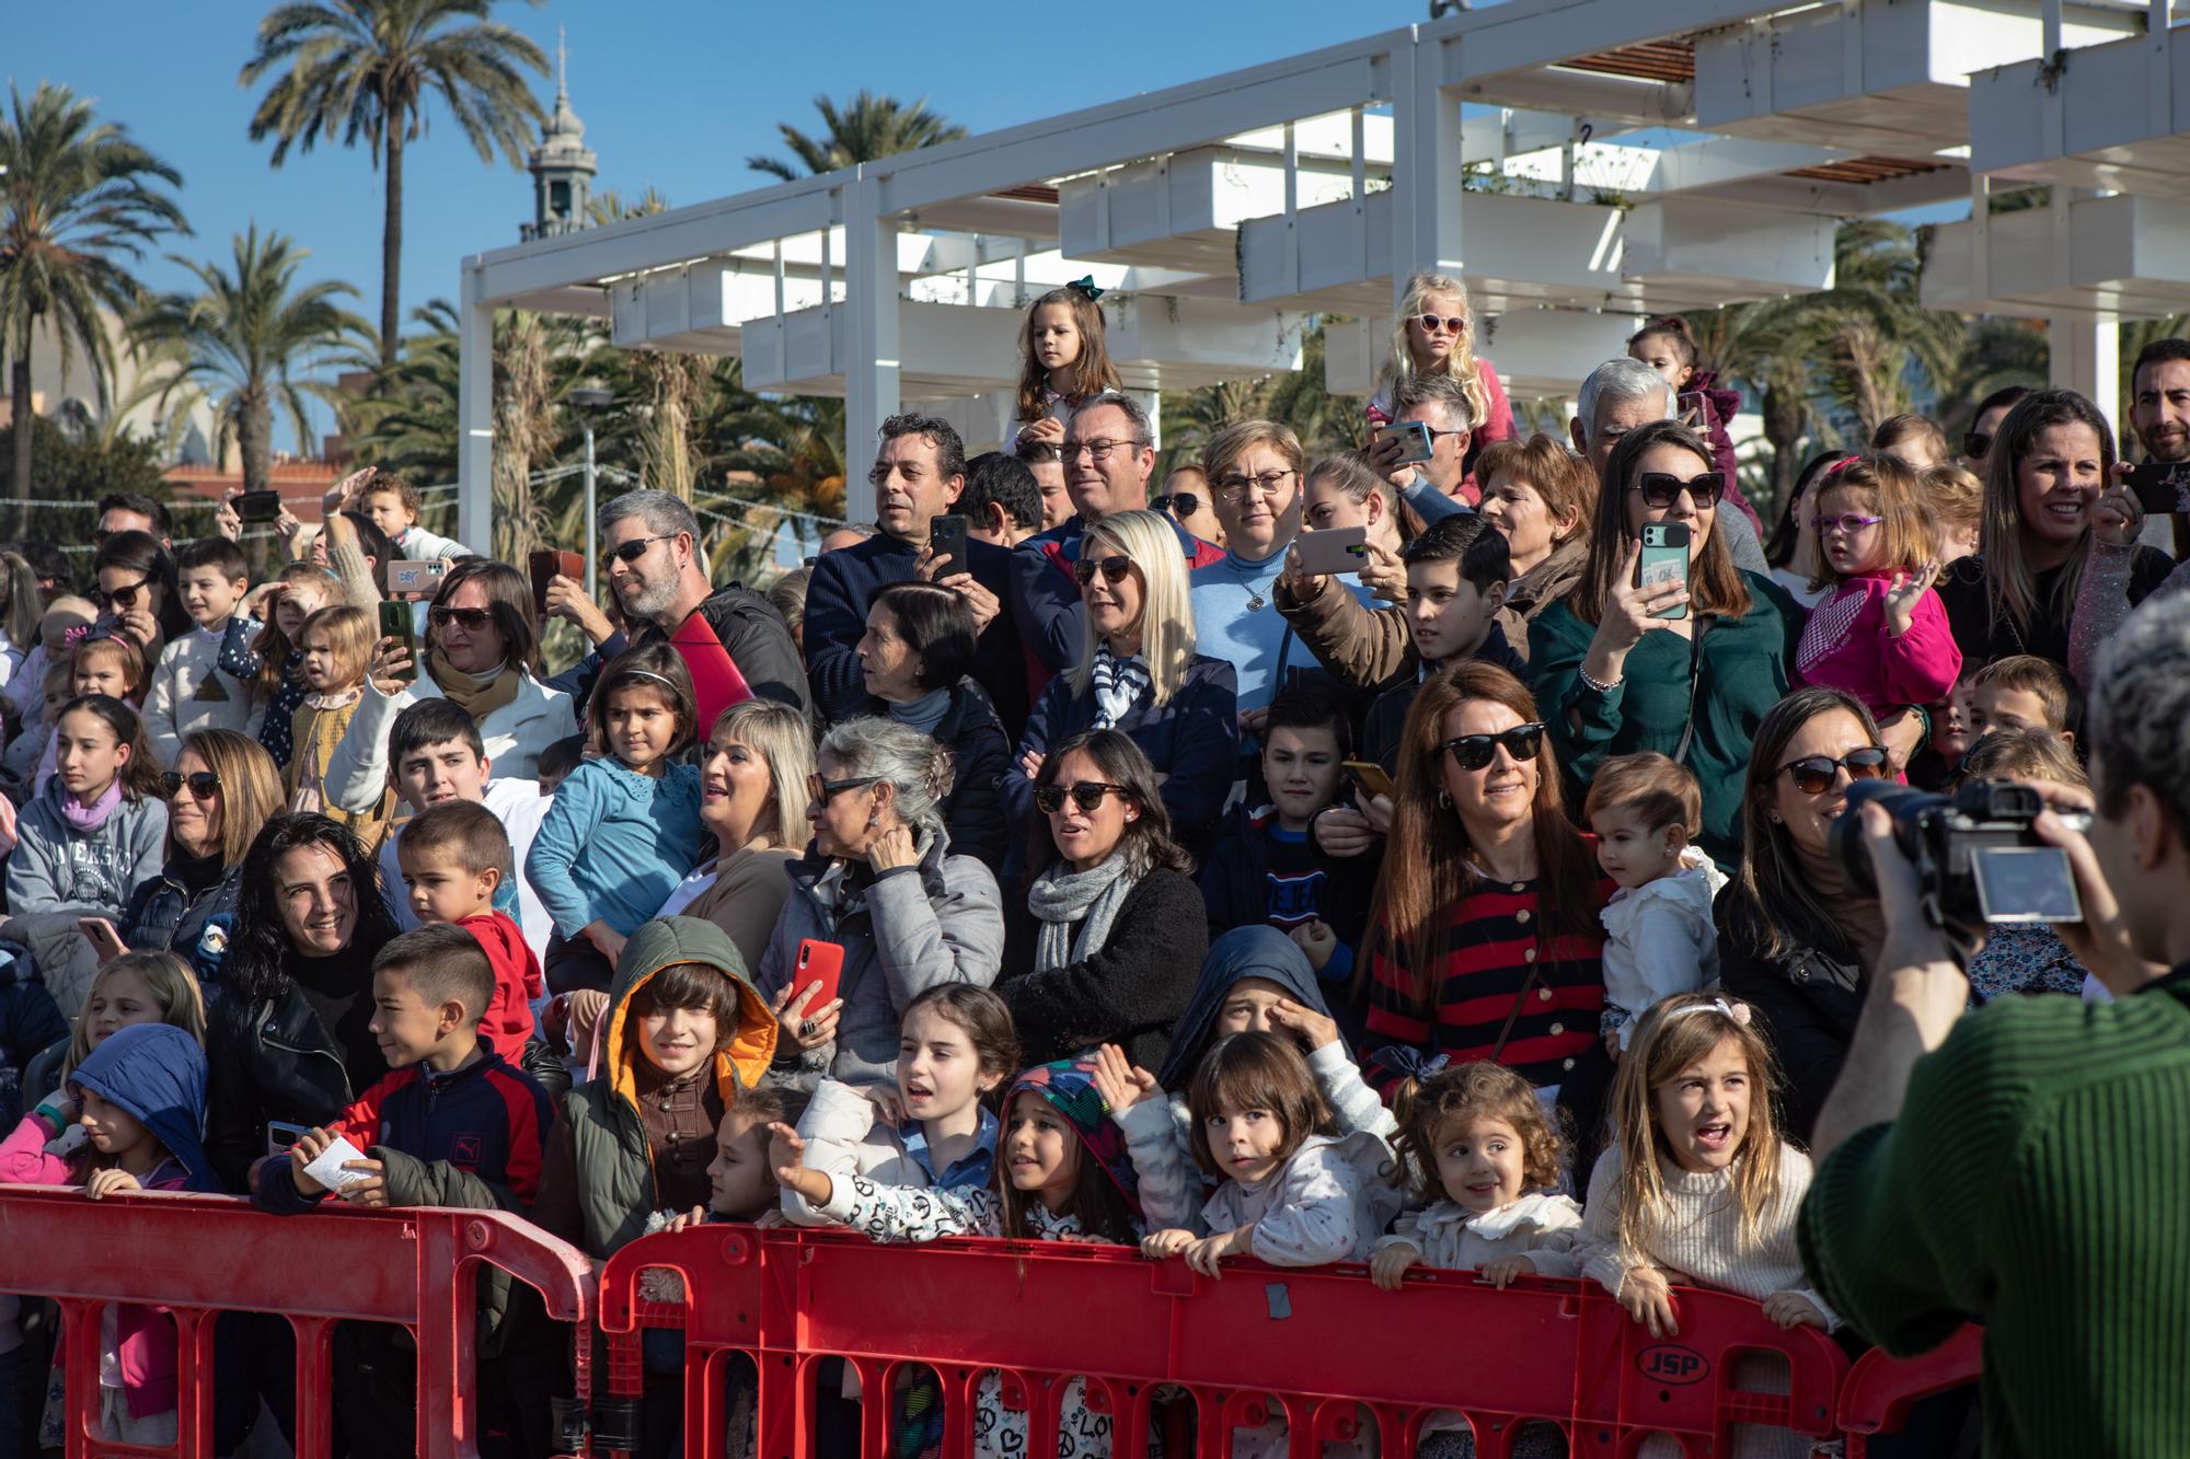
<svg viewBox="0 0 2190 1459"><path fill-rule="evenodd" d="M806 850L812 734L775 699L734 703L714 721L699 762L699 819L716 857L683 878L655 916L705 918L758 968L791 896L784 868Z"/></svg>

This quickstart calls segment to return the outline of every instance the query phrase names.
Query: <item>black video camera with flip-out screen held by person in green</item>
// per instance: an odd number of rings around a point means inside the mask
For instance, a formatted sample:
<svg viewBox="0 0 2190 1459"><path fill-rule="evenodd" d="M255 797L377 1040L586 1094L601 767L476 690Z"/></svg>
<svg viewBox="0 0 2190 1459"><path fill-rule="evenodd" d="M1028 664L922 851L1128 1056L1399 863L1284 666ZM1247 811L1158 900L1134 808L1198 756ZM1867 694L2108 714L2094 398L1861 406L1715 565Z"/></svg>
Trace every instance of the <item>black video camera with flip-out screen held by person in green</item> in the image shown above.
<svg viewBox="0 0 2190 1459"><path fill-rule="evenodd" d="M1999 922L2083 920L2067 852L2030 828L2045 811L2030 786L1964 780L1953 795L1932 795L1892 780L1851 784L1848 808L1833 822L1833 854L1857 889L1877 894L1859 819L1866 804L1892 817L1894 846L1916 868L1918 903L1932 927L1975 938Z"/></svg>

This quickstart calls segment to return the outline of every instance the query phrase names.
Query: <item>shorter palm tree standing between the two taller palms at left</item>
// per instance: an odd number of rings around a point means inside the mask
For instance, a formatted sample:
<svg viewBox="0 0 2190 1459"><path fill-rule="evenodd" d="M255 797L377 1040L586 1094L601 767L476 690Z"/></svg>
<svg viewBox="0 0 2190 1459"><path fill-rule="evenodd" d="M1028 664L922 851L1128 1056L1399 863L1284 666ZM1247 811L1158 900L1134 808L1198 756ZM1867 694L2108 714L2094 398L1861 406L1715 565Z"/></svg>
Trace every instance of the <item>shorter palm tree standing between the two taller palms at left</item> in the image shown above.
<svg viewBox="0 0 2190 1459"><path fill-rule="evenodd" d="M166 366L160 399L180 403L175 416L199 399L212 403L215 453L241 447L245 491L265 491L272 480L274 412L289 416L300 443L309 440L304 401L333 401L333 390L307 377L372 331L335 302L357 296L350 285L298 287L309 256L278 232L261 237L252 223L234 239L234 272L173 259L197 276L199 291L162 294L131 324L138 346Z"/></svg>

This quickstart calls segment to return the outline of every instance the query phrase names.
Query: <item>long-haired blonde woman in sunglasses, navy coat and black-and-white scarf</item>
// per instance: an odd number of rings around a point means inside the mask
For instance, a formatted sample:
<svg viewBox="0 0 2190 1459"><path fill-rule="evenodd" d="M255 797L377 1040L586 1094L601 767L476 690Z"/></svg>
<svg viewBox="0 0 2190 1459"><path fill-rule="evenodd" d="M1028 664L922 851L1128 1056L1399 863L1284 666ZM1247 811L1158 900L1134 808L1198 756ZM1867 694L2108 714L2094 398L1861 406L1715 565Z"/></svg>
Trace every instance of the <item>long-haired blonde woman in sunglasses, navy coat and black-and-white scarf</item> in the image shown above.
<svg viewBox="0 0 2190 1459"><path fill-rule="evenodd" d="M1086 609L1080 655L1027 716L1003 778L1012 824L1034 824L1034 780L1051 745L1082 730L1121 730L1163 778L1172 826L1198 848L1240 756L1240 677L1196 653L1178 537L1156 513L1115 513L1088 526L1073 576Z"/></svg>

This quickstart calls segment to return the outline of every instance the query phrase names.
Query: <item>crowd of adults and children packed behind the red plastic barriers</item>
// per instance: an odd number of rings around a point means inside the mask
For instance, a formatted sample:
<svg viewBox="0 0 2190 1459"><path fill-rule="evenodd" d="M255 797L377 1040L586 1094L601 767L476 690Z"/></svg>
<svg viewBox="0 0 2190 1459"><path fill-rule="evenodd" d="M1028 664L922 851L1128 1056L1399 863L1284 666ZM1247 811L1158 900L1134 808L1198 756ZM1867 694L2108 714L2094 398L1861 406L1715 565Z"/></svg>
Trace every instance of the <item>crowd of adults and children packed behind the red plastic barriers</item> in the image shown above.
<svg viewBox="0 0 2190 1459"><path fill-rule="evenodd" d="M495 1207L596 1260L788 1220L1581 1277L1653 1336L1695 1284L1883 1341L1798 1249L1897 968L1833 822L1859 782L2083 793L2102 646L2181 657L2137 605L2190 572L2105 414L2002 390L1960 453L1897 416L1767 524L1682 320L1522 436L1465 289L1417 276L1360 449L1235 421L1161 482L1088 289L1023 359L1003 449L891 416L872 519L766 591L668 493L600 510L600 605L372 471L256 583L226 506L175 543L110 497L81 585L0 554L0 1179ZM2190 458L2190 342L2135 361L2131 425ZM1995 929L1951 1012L2131 992L2091 935ZM510 1286L480 1321L482 1452L548 1452L567 1332ZM64 1376L35 1301L0 1328L28 1452ZM335 1341L348 1452L410 1452L412 1349ZM173 1441L173 1325L101 1343L66 1380ZM648 1334L646 1452L681 1367ZM223 1323L219 1376L221 1452L287 1433L280 1319ZM826 1435L865 1398L933 1450L933 1382L823 1389ZM1060 1455L1108 1455L1064 1406ZM1025 1448L994 1380L977 1433Z"/></svg>

